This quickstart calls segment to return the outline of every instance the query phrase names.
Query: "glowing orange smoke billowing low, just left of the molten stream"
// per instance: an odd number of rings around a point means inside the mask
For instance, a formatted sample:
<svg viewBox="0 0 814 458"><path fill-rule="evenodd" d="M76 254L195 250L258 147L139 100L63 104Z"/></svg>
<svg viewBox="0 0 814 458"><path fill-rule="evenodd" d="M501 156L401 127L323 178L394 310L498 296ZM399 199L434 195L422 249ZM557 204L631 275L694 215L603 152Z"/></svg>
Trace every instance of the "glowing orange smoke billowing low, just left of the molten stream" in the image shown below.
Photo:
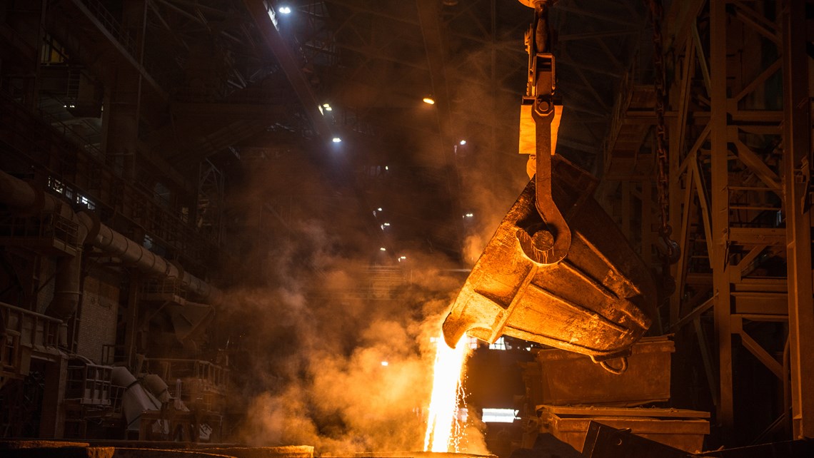
<svg viewBox="0 0 814 458"><path fill-rule="evenodd" d="M243 194L244 208L263 212L266 179ZM408 254L409 265L377 264L348 246L370 248L343 232L356 224L314 218L308 195L284 223L248 218L264 234L243 264L256 281L231 290L219 317L241 390L233 407L245 412L230 435L252 446L313 445L322 456L421 450L431 338L464 273L421 252Z"/></svg>

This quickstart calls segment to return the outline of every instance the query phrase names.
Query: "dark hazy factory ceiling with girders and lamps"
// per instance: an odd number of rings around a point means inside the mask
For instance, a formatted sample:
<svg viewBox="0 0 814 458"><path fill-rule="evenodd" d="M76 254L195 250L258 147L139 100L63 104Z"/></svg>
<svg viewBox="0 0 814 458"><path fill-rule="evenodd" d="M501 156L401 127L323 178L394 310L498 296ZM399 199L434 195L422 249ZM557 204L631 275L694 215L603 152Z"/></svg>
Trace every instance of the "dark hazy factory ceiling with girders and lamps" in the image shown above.
<svg viewBox="0 0 814 458"><path fill-rule="evenodd" d="M493 227L527 179L517 138L533 12L521 2L138 4L66 0L48 27L67 48L83 43L73 52L97 73L116 59L142 77L142 101L151 103L142 103L138 149L174 185L190 188L188 170L202 162L257 168L307 157L314 170L330 170L330 194L352 196L372 216L371 233L391 225L392 235L374 234L380 242L413 239L457 257L466 233ZM594 173L619 82L647 80L645 11L636 0L551 8L565 106L558 153ZM109 44L87 46L100 31ZM276 181L298 181L266 167ZM466 215L494 203L495 216L467 226ZM386 221L373 214L379 207L391 212Z"/></svg>

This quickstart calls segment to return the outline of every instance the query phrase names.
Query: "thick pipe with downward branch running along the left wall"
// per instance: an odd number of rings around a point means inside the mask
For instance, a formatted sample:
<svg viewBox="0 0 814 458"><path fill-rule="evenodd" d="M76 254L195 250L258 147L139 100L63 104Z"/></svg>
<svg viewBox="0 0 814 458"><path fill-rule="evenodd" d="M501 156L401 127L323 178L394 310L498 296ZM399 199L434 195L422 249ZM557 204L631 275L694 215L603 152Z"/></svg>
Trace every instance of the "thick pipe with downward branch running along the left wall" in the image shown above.
<svg viewBox="0 0 814 458"><path fill-rule="evenodd" d="M81 246L85 243L98 248L109 255L119 258L126 264L133 264L144 273L178 278L186 290L199 296L204 301L218 302L220 290L209 285L176 264L156 255L138 242L98 222L89 212L73 212L68 203L44 193L36 186L19 178L12 177L0 170L0 203L5 203L18 212L55 212L77 223L76 256L59 258L55 277L54 300L48 307L48 314L65 319L77 310L80 297L81 280ZM88 234L95 234L88 238Z"/></svg>

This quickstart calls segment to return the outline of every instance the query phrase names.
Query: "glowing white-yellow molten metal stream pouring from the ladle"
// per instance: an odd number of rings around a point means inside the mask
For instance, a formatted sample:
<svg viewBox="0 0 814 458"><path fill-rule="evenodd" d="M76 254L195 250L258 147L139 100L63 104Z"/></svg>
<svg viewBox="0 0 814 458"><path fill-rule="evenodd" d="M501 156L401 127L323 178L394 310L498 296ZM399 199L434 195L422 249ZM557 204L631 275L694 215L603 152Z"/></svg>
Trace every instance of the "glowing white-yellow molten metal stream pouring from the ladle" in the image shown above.
<svg viewBox="0 0 814 458"><path fill-rule="evenodd" d="M457 342L455 348L444 345L443 335L436 342L438 346L432 371L432 397L427 418L427 433L424 435L424 451L457 452L460 440L458 436L461 431L457 427L456 419L458 405L462 400L463 364L470 354L470 347L466 345L466 334Z"/></svg>

